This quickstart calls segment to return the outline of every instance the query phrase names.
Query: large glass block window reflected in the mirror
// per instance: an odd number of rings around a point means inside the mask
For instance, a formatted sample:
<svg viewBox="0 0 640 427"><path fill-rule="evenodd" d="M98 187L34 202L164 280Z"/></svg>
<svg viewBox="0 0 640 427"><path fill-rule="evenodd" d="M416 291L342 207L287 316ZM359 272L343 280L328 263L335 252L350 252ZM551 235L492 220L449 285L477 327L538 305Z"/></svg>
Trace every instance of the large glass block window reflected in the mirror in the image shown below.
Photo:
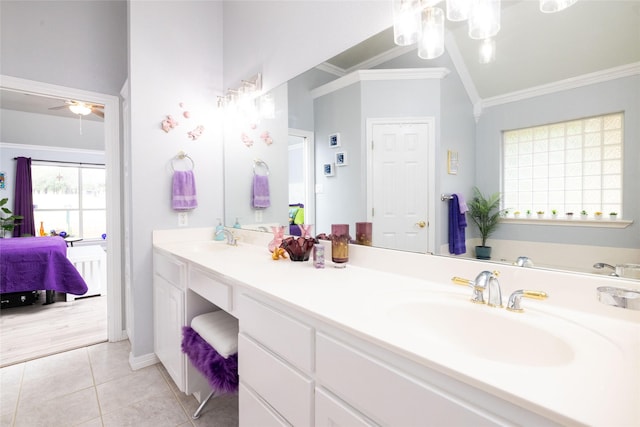
<svg viewBox="0 0 640 427"><path fill-rule="evenodd" d="M621 217L623 119L615 113L504 131L503 207Z"/></svg>

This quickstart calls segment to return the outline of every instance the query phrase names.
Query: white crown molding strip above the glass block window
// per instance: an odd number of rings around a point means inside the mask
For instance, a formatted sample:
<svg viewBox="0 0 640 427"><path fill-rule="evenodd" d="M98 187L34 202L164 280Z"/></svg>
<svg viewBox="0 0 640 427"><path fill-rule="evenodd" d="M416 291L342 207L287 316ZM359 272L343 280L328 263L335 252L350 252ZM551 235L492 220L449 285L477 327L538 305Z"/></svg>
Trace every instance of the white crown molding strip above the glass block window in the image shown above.
<svg viewBox="0 0 640 427"><path fill-rule="evenodd" d="M637 74L640 74L640 62L634 62L620 67L584 74L582 76L571 77L546 85L534 86L529 89L519 90L505 95L486 98L482 100L482 109L561 92L564 90L603 83L622 77L630 77Z"/></svg>

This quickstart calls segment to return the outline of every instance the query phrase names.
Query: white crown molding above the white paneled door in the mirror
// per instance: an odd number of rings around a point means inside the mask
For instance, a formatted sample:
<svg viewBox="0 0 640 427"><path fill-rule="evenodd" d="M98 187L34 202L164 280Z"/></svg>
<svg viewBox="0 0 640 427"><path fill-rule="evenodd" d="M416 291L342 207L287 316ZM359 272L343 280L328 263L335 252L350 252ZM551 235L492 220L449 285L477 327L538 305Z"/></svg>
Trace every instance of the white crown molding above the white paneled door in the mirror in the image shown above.
<svg viewBox="0 0 640 427"><path fill-rule="evenodd" d="M361 81L443 79L450 72L448 68L359 70L311 90L311 97L315 99Z"/></svg>

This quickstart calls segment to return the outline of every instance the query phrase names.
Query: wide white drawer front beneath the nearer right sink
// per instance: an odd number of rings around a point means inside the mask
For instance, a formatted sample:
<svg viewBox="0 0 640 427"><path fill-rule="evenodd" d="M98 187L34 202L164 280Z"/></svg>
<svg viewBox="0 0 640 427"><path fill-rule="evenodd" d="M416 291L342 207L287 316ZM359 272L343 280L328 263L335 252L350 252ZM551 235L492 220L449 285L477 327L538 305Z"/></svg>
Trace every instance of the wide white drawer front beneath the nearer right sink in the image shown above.
<svg viewBox="0 0 640 427"><path fill-rule="evenodd" d="M500 423L469 402L419 382L327 335L318 334L316 349L318 384L379 424L489 426Z"/></svg>

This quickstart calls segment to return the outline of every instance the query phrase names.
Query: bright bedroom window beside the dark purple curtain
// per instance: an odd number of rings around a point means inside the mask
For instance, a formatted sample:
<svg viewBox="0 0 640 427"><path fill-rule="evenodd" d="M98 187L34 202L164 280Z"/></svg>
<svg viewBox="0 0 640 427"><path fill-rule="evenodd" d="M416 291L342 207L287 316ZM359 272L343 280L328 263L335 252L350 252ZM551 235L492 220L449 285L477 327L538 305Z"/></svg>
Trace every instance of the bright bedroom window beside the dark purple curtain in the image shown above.
<svg viewBox="0 0 640 427"><path fill-rule="evenodd" d="M104 165L32 161L36 234L43 225L82 239L101 239L106 232Z"/></svg>

